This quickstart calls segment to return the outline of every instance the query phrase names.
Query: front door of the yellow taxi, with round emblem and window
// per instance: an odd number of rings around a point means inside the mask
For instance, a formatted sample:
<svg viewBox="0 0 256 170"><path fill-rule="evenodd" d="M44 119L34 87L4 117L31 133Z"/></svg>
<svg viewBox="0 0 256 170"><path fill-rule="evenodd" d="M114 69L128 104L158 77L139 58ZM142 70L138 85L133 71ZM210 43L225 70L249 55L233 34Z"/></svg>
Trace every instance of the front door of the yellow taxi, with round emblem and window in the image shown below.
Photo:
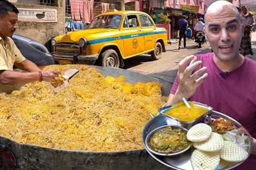
<svg viewBox="0 0 256 170"><path fill-rule="evenodd" d="M124 43L124 58L145 51L145 39L136 14L125 16L121 32Z"/></svg>

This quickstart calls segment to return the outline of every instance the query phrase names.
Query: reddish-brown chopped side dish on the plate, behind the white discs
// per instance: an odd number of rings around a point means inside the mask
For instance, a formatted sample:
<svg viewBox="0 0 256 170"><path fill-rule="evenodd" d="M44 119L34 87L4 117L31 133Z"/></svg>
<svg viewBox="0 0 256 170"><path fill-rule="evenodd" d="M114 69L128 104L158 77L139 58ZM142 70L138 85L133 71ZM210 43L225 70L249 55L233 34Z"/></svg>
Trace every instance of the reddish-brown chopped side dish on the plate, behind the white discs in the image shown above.
<svg viewBox="0 0 256 170"><path fill-rule="evenodd" d="M210 123L213 132L220 134L225 133L226 131L231 131L234 129L234 124L230 120L224 120L223 118L218 118Z"/></svg>

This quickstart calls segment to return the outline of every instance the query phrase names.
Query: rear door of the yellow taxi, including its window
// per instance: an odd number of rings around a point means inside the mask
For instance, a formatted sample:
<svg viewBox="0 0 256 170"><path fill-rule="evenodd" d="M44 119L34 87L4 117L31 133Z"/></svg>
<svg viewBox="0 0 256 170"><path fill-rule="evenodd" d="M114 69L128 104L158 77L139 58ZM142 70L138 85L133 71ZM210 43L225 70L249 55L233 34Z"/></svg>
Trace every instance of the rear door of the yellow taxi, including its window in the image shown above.
<svg viewBox="0 0 256 170"><path fill-rule="evenodd" d="M156 42L154 22L147 15L140 14L139 18L143 35L145 36L145 50L153 50Z"/></svg>

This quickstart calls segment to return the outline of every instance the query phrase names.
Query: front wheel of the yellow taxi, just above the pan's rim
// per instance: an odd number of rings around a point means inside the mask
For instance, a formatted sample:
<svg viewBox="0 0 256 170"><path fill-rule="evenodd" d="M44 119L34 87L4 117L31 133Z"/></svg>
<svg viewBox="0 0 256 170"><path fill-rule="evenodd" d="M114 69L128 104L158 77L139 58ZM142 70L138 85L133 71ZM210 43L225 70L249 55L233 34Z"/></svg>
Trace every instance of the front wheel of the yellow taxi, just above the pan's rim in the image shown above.
<svg viewBox="0 0 256 170"><path fill-rule="evenodd" d="M119 67L120 61L114 49L108 49L101 54L100 65L106 67Z"/></svg>

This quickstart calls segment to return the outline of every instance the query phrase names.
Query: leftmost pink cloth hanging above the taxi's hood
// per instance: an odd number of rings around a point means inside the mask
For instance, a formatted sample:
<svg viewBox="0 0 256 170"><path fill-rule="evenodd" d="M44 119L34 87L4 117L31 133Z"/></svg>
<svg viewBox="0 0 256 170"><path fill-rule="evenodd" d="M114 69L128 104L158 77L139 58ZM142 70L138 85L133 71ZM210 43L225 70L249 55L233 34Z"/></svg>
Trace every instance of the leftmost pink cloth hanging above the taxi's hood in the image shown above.
<svg viewBox="0 0 256 170"><path fill-rule="evenodd" d="M83 1L70 0L71 18L75 21L81 21L81 8L83 8Z"/></svg>

